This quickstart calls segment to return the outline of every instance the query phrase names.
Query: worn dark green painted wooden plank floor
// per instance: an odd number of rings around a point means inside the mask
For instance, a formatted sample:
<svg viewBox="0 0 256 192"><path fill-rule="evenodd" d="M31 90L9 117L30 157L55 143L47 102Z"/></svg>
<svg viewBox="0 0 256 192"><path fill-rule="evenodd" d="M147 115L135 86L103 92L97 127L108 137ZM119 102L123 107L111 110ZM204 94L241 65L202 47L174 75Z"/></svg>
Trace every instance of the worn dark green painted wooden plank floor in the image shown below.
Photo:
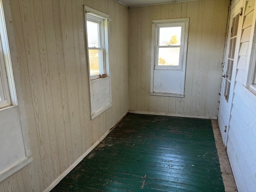
<svg viewBox="0 0 256 192"><path fill-rule="evenodd" d="M224 192L211 120L128 114L52 192Z"/></svg>

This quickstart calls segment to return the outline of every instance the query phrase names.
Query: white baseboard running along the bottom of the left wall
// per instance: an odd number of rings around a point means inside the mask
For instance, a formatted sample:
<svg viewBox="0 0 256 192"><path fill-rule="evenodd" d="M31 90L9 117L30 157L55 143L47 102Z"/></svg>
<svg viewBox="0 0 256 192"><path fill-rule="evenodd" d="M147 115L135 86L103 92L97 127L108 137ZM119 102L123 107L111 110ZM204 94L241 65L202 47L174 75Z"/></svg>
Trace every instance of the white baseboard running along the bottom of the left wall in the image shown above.
<svg viewBox="0 0 256 192"><path fill-rule="evenodd" d="M110 128L98 141L96 141L82 156L80 156L68 169L66 169L44 192L50 192L70 171L72 171L106 136L126 117L128 112Z"/></svg>

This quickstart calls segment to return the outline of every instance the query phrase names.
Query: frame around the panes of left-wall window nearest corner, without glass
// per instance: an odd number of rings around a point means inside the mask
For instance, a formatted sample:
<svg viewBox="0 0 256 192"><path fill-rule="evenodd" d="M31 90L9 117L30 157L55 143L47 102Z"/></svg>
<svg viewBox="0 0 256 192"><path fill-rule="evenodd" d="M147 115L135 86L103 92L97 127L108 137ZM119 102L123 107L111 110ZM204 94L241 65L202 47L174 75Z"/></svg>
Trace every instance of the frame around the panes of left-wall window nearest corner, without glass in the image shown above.
<svg viewBox="0 0 256 192"><path fill-rule="evenodd" d="M84 6L85 12L85 27L86 27L86 44L87 44L87 54L88 54L88 67L90 80L97 80L100 78L105 78L109 76L109 62L108 62L108 21L109 16L98 10L94 10L90 7ZM87 21L96 22L99 24L99 48L89 47L88 46L88 34L87 34ZM102 55L99 56L99 68L100 73L96 75L90 74L90 58L89 50L101 50Z"/></svg>

